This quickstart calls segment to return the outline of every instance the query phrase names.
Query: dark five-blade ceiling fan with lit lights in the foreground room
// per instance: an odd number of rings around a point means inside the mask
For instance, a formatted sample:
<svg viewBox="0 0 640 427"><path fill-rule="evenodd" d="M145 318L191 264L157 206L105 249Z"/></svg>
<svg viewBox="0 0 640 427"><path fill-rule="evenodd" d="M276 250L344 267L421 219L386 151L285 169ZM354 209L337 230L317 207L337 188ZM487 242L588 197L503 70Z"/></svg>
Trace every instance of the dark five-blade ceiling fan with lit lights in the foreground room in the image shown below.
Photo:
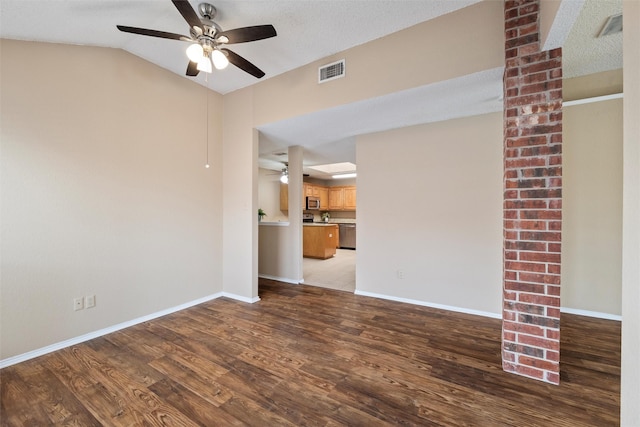
<svg viewBox="0 0 640 427"><path fill-rule="evenodd" d="M273 25L256 25L222 31L222 28L213 21L217 12L213 5L200 3L198 10L202 18L199 18L187 0L171 0L171 2L189 24L189 36L125 25L117 27L125 33L192 43L187 48L187 56L189 57L187 76L197 76L200 71L210 73L212 71L211 62L217 69L223 69L232 63L254 77L262 78L264 76L261 69L224 46L275 37L277 34Z"/></svg>

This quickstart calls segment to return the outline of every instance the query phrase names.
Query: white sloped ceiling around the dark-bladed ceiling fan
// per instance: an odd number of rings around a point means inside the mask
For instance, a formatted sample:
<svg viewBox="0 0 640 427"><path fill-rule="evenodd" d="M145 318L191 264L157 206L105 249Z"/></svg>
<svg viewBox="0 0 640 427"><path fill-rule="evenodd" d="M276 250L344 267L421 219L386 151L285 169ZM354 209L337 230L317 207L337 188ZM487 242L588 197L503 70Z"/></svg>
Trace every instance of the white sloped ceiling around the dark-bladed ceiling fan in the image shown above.
<svg viewBox="0 0 640 427"><path fill-rule="evenodd" d="M223 30L272 24L274 38L229 45L269 78L480 0L208 0ZM190 0L197 11L197 0ZM170 0L1 0L0 36L115 47L184 76L187 43L122 33L116 25L189 35ZM203 73L201 73L203 74ZM190 77L185 77L190 78ZM195 79L203 84L202 76ZM209 87L225 94L258 80L230 65Z"/></svg>

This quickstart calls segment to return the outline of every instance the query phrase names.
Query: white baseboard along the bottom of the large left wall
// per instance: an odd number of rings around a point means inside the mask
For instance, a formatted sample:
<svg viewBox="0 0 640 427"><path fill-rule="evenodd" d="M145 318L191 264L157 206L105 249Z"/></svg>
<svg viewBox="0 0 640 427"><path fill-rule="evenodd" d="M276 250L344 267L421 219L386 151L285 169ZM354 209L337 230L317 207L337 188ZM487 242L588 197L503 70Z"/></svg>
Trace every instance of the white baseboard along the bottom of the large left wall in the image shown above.
<svg viewBox="0 0 640 427"><path fill-rule="evenodd" d="M7 366L15 365L16 363L24 362L29 359L33 359L39 356L43 356L47 353L51 353L57 350L62 350L63 348L70 347L72 345L80 344L85 341L92 340L94 338L101 337L103 335L110 334L112 332L119 331L124 328L128 328L130 326L137 325L139 323L147 322L149 320L157 319L158 317L166 316L167 314L175 313L180 310L187 309L189 307L193 307L194 305L202 304L207 301L214 300L216 298L220 298L222 296L226 296L233 299L238 299L240 301L244 301L238 295L226 294L224 292L218 292L213 295L209 295L206 297L198 298L197 300L189 301L184 304L177 305L175 307L167 308L165 310L161 310L155 313L148 314L146 316L138 317L136 319L128 320L126 322L118 323L117 325L109 326L104 329L99 329L94 332L90 332L88 334L80 335L78 337L70 338L68 340L60 341L55 344L48 345L46 347L38 348L36 350L29 351L27 353L19 354L17 356L9 357L7 359L0 360L0 369L6 368ZM259 298L258 298L259 299ZM246 302L246 301L245 301Z"/></svg>

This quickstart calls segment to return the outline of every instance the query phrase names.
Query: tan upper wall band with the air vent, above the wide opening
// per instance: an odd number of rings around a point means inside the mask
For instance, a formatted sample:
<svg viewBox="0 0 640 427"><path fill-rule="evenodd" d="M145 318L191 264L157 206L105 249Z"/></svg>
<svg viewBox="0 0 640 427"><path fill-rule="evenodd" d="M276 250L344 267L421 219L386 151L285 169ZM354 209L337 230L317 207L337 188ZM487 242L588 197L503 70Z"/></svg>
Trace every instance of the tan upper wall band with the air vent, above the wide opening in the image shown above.
<svg viewBox="0 0 640 427"><path fill-rule="evenodd" d="M504 66L503 15L483 1L260 82L254 125ZM345 77L318 84L318 67L340 59Z"/></svg>

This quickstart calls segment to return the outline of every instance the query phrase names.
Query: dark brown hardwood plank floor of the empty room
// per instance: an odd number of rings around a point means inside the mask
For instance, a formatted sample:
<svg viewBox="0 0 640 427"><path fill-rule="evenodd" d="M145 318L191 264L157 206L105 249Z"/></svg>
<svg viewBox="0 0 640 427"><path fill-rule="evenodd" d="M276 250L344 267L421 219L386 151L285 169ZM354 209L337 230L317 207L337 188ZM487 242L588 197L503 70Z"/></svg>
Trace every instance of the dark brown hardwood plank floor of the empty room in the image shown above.
<svg viewBox="0 0 640 427"><path fill-rule="evenodd" d="M1 424L619 425L620 323L563 314L561 385L500 367L500 320L260 281L0 371Z"/></svg>

